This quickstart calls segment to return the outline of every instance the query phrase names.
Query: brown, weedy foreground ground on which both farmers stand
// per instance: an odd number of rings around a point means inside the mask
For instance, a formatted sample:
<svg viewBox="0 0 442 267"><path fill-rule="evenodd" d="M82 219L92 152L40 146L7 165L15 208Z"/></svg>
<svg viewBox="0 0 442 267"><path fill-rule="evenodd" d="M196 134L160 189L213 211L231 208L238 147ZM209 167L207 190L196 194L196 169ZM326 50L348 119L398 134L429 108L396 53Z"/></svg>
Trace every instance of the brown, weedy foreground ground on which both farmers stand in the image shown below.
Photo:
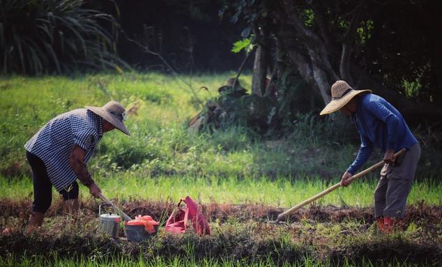
<svg viewBox="0 0 442 267"><path fill-rule="evenodd" d="M164 222L176 204L172 201L119 201L116 203L132 218L152 215ZM379 233L372 208L310 206L294 213L288 224L268 224L282 208L257 204L203 204L211 236L190 232L173 235L160 230L144 243L113 241L98 230L98 202L82 201L78 216L65 215L56 200L47 213L43 229L25 236L22 229L29 215L31 200L0 199L0 227L13 227L11 236L0 236L0 255L59 254L112 257L173 257L185 255L203 259L266 259L302 262L305 258L326 264L345 261L377 265L394 261L442 266L442 206L424 203L409 206L406 231L392 235ZM123 233L121 233L123 236ZM190 247L190 248L189 248ZM141 249L140 249L141 248Z"/></svg>

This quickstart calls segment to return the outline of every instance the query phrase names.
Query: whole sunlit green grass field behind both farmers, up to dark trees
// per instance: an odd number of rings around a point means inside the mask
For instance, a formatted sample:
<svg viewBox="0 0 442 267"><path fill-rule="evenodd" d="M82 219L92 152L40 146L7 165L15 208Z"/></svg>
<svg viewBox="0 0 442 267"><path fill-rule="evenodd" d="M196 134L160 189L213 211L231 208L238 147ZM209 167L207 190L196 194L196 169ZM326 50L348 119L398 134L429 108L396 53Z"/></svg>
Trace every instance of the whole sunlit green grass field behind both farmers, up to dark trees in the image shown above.
<svg viewBox="0 0 442 267"><path fill-rule="evenodd" d="M339 181L355 156L358 140L337 144L322 139L321 129L330 127L328 121L300 116L300 127L278 140L252 137L238 126L213 135L190 134L185 121L201 106L194 105L188 84L204 101L231 76L181 77L185 82L155 73L1 78L0 197L32 193L23 145L49 119L111 99L137 106L137 114L127 121L132 136L117 130L107 133L89 164L109 197L161 200L190 194L202 201L287 207ZM243 76L241 84L250 87L250 76ZM209 91L199 90L201 86ZM441 162L437 153L430 158L427 154L434 151L423 150L410 201L440 205L441 184L435 182L435 173ZM375 153L367 166L380 158ZM337 190L320 204L370 206L376 176ZM82 194L87 195L85 188Z"/></svg>

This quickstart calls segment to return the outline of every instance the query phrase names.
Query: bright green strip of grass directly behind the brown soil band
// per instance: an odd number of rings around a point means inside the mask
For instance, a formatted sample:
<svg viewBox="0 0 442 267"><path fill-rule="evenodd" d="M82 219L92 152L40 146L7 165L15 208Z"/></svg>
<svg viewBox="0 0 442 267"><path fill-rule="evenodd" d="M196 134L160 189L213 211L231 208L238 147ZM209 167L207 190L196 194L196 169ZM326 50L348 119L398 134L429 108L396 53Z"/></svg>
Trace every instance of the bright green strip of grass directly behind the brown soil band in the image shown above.
<svg viewBox="0 0 442 267"><path fill-rule="evenodd" d="M190 176L158 176L144 177L137 172L120 172L102 176L98 185L105 196L117 199L149 199L161 201L165 199L181 199L186 195L198 198L203 203L215 201L229 204L264 204L270 206L290 207L300 201L326 190L333 185L321 178L300 178L287 181L287 178L269 179L216 177L208 178ZM337 181L334 181L337 183ZM14 179L13 181L0 180L0 198L21 199L32 196L31 178ZM349 188L338 188L325 197L317 200L318 205L358 206L373 205L373 192L376 181L356 181ZM409 204L420 201L430 205L442 205L442 186L434 182L421 181L416 183L409 195ZM58 193L53 192L56 199ZM89 190L81 187L80 195L91 197Z"/></svg>

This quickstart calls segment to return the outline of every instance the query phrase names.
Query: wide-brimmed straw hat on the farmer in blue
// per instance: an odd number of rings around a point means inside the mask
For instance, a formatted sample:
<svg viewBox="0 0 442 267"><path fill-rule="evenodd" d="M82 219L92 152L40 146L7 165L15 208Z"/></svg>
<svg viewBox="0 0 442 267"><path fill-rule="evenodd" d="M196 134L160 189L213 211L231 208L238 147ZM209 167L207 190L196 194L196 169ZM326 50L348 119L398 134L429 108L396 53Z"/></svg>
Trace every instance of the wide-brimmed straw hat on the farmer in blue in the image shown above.
<svg viewBox="0 0 442 267"><path fill-rule="evenodd" d="M354 90L345 81L337 81L332 85L332 100L321 111L321 115L330 114L344 107L352 98L360 93L372 93L371 90Z"/></svg>

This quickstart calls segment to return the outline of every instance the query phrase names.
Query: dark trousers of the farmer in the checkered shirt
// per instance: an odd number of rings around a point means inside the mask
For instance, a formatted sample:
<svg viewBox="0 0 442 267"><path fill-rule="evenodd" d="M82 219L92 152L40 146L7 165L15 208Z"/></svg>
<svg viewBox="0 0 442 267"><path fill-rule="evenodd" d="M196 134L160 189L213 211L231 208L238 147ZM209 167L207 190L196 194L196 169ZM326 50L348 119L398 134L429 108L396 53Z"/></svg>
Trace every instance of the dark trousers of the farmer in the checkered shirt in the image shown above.
<svg viewBox="0 0 442 267"><path fill-rule="evenodd" d="M52 183L47 176L46 166L43 160L33 153L26 151L26 158L31 165L33 176L33 204L32 211L45 213L52 203ZM78 198L78 183L74 181L68 186L69 191L61 190L64 200Z"/></svg>

